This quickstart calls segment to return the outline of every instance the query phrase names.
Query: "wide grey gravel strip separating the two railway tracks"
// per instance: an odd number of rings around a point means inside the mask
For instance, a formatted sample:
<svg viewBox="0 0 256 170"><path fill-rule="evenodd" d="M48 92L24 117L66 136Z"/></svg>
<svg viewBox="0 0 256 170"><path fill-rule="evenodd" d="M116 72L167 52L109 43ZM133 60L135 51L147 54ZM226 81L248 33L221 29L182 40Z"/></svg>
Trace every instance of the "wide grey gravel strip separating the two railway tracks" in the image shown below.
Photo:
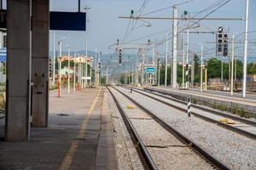
<svg viewBox="0 0 256 170"><path fill-rule="evenodd" d="M142 94L131 94L125 88L119 89L131 96L132 99L136 99L140 105L152 111L177 131L200 144L213 156L216 156L218 160L224 161L231 169L256 169L255 140L248 139L210 122L205 122L195 116L188 118L181 111L161 104L154 99L149 99Z"/></svg>

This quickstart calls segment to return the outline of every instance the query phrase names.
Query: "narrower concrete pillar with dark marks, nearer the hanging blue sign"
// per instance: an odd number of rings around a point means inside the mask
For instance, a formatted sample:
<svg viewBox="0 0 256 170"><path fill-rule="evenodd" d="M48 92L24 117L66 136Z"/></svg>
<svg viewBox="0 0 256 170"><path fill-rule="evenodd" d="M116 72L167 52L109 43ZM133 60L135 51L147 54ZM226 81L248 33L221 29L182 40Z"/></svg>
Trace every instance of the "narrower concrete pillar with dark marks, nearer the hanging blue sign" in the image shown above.
<svg viewBox="0 0 256 170"><path fill-rule="evenodd" d="M47 127L49 0L32 0L32 126Z"/></svg>

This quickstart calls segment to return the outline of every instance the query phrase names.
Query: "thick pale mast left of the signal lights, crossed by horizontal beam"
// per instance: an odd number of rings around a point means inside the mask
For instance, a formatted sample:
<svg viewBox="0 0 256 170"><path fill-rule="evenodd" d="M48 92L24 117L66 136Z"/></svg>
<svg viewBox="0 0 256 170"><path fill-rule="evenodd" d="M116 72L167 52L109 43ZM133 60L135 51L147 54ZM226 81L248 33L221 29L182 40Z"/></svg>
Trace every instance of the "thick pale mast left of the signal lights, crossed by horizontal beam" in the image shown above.
<svg viewBox="0 0 256 170"><path fill-rule="evenodd" d="M173 7L173 18L177 18L177 7ZM172 88L177 88L177 20L172 25Z"/></svg>

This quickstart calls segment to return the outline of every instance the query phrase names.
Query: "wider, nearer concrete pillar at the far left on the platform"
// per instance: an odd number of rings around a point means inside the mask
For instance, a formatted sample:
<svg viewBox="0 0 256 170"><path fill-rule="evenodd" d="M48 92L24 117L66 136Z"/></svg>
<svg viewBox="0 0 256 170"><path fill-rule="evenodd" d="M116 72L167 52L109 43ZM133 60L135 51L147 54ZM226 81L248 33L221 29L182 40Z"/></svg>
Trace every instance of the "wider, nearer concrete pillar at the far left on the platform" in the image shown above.
<svg viewBox="0 0 256 170"><path fill-rule="evenodd" d="M31 113L31 0L7 1L7 116L5 137L29 139Z"/></svg>

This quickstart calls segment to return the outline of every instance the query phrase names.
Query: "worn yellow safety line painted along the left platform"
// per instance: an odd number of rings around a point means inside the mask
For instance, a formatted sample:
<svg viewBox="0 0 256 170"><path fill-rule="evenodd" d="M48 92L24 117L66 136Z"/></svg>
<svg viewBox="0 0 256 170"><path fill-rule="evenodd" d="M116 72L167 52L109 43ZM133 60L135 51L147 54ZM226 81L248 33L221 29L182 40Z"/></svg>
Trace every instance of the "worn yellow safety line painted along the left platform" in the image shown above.
<svg viewBox="0 0 256 170"><path fill-rule="evenodd" d="M96 105L96 102L99 98L99 94L100 94L101 90L102 90L102 88L100 88L98 90L98 92L96 94L96 99L93 101L92 105L90 106L90 110L88 111L87 115L85 116L84 122L82 123L82 126L81 126L81 128L79 130L79 133L78 133L76 138L84 137L84 133L85 133L88 121L90 119L92 111L95 108L95 105ZM78 149L80 142L81 142L81 140L73 140L73 142L71 143L71 145L69 147L69 150L67 150L66 156L64 157L63 161L61 162L60 170L69 169L69 167L71 166L72 161L73 161L74 153Z"/></svg>

